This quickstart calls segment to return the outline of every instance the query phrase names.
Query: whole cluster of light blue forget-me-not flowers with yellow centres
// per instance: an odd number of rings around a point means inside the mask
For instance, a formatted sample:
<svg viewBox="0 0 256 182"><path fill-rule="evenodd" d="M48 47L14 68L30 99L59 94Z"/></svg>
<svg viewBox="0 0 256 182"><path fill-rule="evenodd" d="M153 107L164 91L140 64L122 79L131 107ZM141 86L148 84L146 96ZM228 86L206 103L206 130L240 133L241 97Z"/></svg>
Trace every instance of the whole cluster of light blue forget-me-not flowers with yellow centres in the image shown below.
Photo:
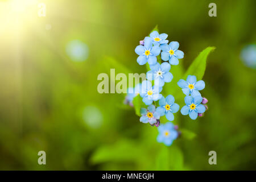
<svg viewBox="0 0 256 182"><path fill-rule="evenodd" d="M153 31L135 48L135 53L138 55L137 63L139 65L148 63L150 71L146 73L146 80L142 81L142 84L127 90L125 103L133 106L133 98L141 96L147 108L141 108L139 121L158 127L158 142L170 146L179 136L177 126L171 122L160 125L160 117L165 115L168 121L174 121L174 113L179 111L180 106L175 103L174 96L164 97L160 92L162 92L164 84L171 82L174 77L170 72L171 65L178 65L179 59L184 57L184 53L178 49L178 42L168 44L167 37L167 34ZM204 81L197 81L196 76L189 75L186 81L181 79L177 84L186 95L186 105L182 107L181 114L189 115L191 119L202 117L207 108L205 104L208 102L206 98L201 97L199 92L205 87Z"/></svg>

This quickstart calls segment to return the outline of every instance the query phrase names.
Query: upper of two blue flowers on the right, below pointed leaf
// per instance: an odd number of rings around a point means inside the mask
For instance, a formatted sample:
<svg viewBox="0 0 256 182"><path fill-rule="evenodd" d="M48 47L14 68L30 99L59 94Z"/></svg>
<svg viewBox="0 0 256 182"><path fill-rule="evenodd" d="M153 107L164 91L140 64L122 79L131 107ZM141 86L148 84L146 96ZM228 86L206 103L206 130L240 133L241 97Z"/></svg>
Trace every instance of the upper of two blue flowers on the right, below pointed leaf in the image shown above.
<svg viewBox="0 0 256 182"><path fill-rule="evenodd" d="M201 96L198 90L203 90L205 88L205 83L203 80L196 81L196 76L188 75L187 81L180 79L177 84L180 88L182 88L182 92L189 96L191 94L192 97Z"/></svg>

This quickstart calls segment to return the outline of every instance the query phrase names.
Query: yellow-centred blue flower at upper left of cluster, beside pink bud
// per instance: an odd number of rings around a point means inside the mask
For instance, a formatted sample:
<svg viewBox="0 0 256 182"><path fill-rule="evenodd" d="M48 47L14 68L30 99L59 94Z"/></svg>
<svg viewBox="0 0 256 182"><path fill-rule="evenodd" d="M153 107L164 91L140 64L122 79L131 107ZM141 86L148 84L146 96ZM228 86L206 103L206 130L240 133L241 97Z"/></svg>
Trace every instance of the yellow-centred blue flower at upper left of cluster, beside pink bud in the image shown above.
<svg viewBox="0 0 256 182"><path fill-rule="evenodd" d="M160 51L159 46L152 46L151 38L145 38L144 46L139 45L135 48L135 52L139 55L137 62L139 65L144 65L147 62L150 65L156 64L156 56L160 54Z"/></svg>

